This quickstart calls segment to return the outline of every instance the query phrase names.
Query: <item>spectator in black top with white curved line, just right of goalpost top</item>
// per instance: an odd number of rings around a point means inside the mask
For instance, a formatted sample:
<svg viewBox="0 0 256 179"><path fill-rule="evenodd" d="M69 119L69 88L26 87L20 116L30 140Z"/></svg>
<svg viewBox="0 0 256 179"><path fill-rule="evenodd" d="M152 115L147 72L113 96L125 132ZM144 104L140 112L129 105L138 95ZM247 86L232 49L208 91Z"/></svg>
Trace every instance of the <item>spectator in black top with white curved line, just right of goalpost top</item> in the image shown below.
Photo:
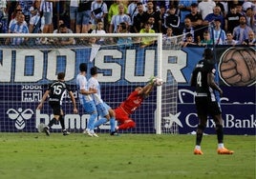
<svg viewBox="0 0 256 179"><path fill-rule="evenodd" d="M165 17L164 26L165 28L171 28L174 35L181 34L180 28L180 16L176 14L175 6L170 6L167 10L168 15Z"/></svg>

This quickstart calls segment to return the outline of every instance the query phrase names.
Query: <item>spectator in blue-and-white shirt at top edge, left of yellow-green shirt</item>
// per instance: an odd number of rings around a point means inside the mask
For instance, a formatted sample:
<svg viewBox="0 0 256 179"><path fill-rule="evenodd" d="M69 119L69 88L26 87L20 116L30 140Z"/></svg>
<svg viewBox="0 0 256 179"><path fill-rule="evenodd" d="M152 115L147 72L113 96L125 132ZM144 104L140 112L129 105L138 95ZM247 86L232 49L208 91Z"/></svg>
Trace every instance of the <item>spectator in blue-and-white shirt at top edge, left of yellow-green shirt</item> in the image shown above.
<svg viewBox="0 0 256 179"><path fill-rule="evenodd" d="M92 24L96 25L97 22L104 23L105 16L108 14L108 7L103 0L96 0L92 3Z"/></svg>

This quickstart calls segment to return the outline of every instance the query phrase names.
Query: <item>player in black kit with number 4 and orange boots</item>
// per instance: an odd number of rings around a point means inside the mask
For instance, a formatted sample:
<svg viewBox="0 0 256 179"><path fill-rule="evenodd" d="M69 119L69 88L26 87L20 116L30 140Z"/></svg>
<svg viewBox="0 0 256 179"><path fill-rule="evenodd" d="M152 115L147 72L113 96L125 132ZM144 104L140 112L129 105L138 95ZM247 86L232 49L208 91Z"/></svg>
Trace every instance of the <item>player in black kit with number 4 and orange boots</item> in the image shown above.
<svg viewBox="0 0 256 179"><path fill-rule="evenodd" d="M224 148L222 110L215 95L215 92L220 92L220 95L222 96L223 90L220 89L214 81L215 71L213 52L210 49L205 49L203 51L203 60L199 61L191 76L191 87L196 88L195 102L199 117L194 154L203 154L203 151L201 150L201 142L208 114L212 116L215 122L215 129L218 138L218 154L232 154L234 152Z"/></svg>

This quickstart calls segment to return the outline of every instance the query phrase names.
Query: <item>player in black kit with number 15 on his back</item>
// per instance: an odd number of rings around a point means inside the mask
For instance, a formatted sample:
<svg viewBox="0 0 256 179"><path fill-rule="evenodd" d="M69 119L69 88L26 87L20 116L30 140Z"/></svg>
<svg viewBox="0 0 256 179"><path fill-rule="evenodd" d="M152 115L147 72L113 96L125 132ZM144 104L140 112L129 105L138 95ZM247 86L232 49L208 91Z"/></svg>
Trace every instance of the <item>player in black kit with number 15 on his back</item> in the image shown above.
<svg viewBox="0 0 256 179"><path fill-rule="evenodd" d="M63 110L61 109L62 99L63 99L63 96L64 96L66 91L69 92L72 103L74 105L74 113L77 113L74 94L73 94L72 90L69 88L69 86L67 86L67 84L64 82L64 78L65 78L65 73L64 72L60 72L60 73L57 74L57 81L53 82L53 84L51 84L49 86L49 88L45 91L45 93L42 97L42 100L41 100L40 104L37 107L37 109L42 109L45 100L49 96L49 105L53 109L54 117L50 121L48 126L44 128L44 131L48 136L50 135L50 130L49 129L54 124L56 124L57 121L60 122L63 135L69 135L70 134L70 132L68 132L65 129L64 117L63 117L64 113L63 113Z"/></svg>

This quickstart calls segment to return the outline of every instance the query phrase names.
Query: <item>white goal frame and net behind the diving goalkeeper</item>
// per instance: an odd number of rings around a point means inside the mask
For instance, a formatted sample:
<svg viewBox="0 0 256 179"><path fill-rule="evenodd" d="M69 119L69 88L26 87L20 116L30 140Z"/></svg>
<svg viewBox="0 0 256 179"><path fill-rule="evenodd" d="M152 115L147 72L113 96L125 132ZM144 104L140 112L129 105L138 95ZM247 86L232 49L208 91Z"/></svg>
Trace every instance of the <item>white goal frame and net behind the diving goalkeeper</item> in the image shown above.
<svg viewBox="0 0 256 179"><path fill-rule="evenodd" d="M163 85L131 115L136 128L120 132L179 133L173 122L178 87L170 70L177 59L172 50L181 48L178 37L177 43L167 45L162 44L159 33L0 34L0 39L1 132L36 132L39 124L49 123L53 111L48 101L43 109L36 107L58 72L66 73L65 81L75 93L79 111L74 114L69 96L64 96L66 128L71 132L86 129L89 115L79 105L75 77L79 64L87 63L87 79L96 66L102 98L113 109L136 87L145 86L151 76L163 79ZM149 42L151 45L142 46ZM109 128L105 124L96 131L109 132ZM60 125L53 125L51 131L60 132Z"/></svg>

